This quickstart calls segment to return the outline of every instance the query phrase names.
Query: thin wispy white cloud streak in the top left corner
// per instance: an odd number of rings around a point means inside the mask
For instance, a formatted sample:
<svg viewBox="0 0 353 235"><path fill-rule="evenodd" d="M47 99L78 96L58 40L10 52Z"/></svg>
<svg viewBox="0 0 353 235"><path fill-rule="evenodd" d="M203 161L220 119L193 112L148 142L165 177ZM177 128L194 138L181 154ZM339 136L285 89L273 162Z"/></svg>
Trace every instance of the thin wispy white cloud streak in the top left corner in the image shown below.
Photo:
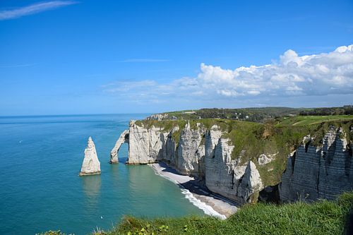
<svg viewBox="0 0 353 235"><path fill-rule="evenodd" d="M61 6L68 6L77 3L78 2L76 1L46 1L37 4L32 4L30 6L15 8L12 10L0 11L0 20L20 18L22 16L28 16L35 13L40 13L42 11L49 11L54 8L59 8Z"/></svg>

